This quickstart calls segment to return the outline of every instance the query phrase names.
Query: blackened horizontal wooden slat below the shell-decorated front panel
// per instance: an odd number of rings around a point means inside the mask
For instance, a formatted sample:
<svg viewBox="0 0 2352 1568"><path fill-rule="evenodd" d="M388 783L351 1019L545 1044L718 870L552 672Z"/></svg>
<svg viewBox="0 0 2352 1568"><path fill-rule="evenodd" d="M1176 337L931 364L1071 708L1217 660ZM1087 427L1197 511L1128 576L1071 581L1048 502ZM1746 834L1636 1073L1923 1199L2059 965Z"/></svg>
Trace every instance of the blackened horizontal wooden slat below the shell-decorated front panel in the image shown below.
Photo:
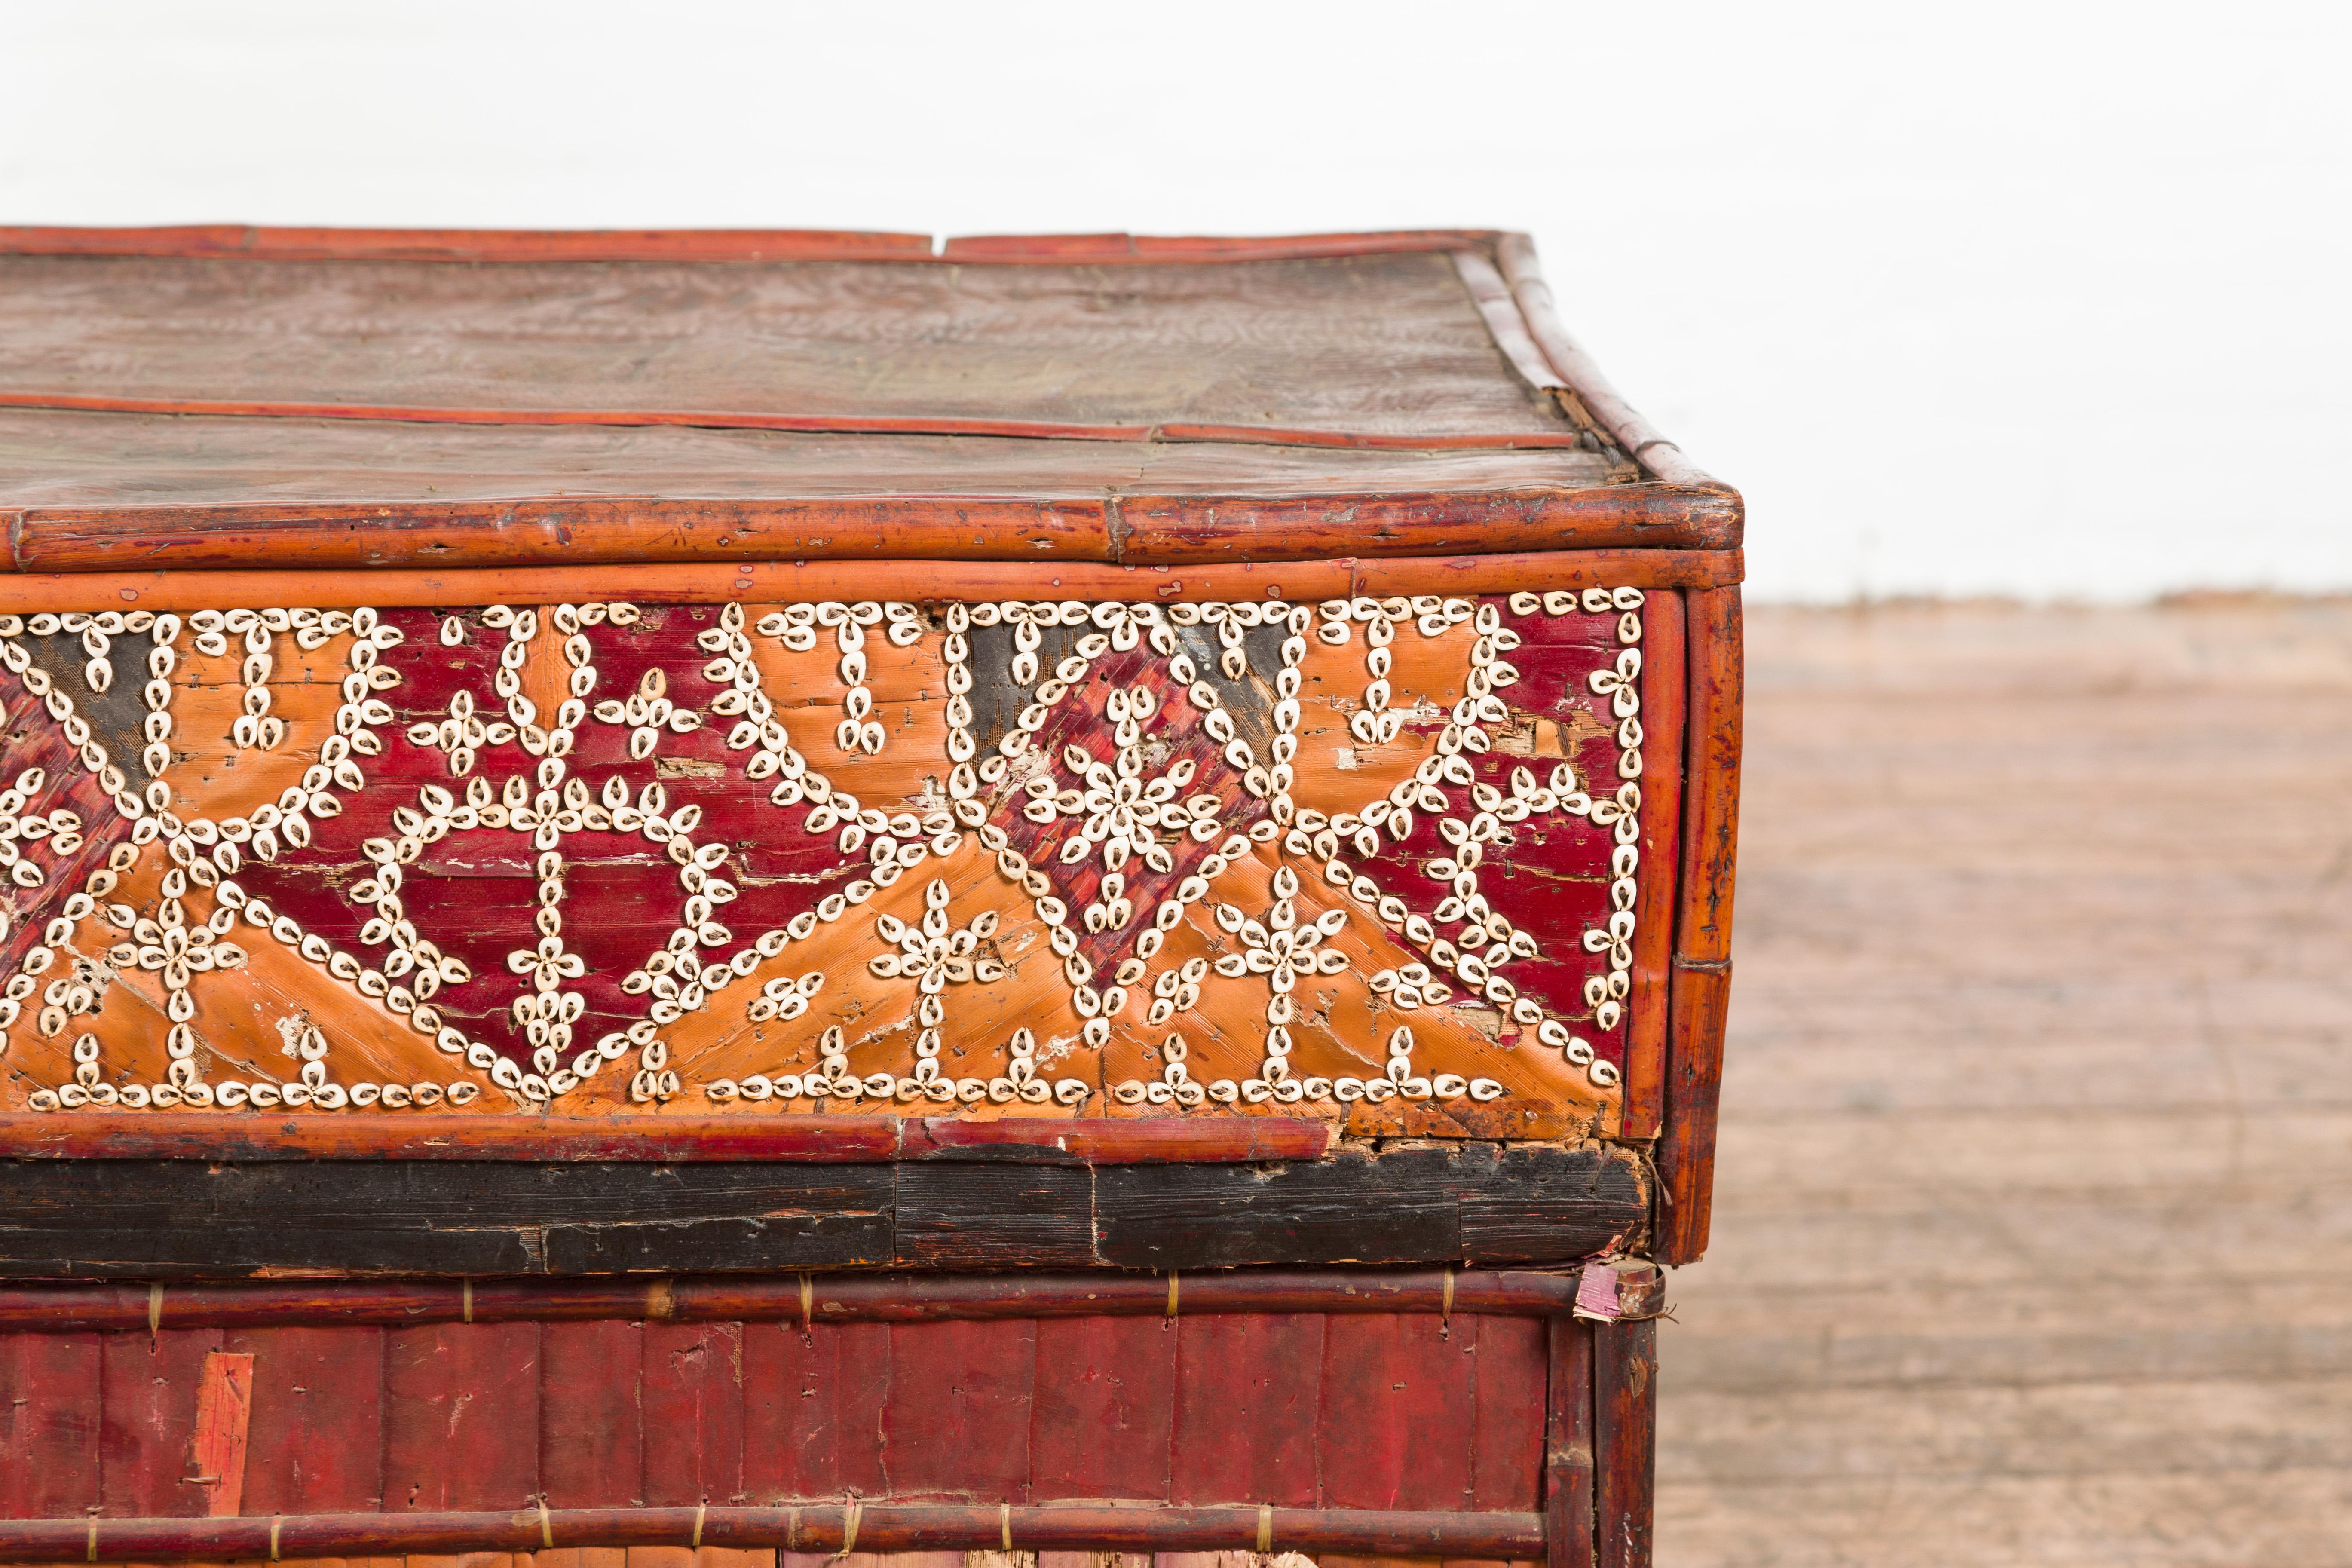
<svg viewBox="0 0 2352 1568"><path fill-rule="evenodd" d="M1529 1194L1545 1229L1489 1225ZM26 1159L0 1164L0 1274L1571 1262L1637 1244L1644 1215L1637 1157L1606 1145L1148 1171Z"/></svg>

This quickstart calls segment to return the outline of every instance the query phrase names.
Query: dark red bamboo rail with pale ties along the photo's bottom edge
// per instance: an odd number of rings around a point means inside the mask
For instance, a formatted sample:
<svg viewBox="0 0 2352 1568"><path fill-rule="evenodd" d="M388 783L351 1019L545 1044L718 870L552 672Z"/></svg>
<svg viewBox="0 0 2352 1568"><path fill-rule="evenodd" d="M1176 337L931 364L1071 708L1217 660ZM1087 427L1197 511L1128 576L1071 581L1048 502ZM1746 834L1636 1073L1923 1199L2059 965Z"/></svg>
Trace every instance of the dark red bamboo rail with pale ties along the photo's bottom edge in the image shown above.
<svg viewBox="0 0 2352 1568"><path fill-rule="evenodd" d="M238 1561L543 1552L564 1547L776 1547L786 1552L1352 1552L1529 1559L1543 1554L1541 1514L1409 1514L1385 1509L941 1507L922 1502L802 1502L793 1507L524 1507L485 1514L282 1514L270 1519L9 1519L0 1563Z"/></svg>

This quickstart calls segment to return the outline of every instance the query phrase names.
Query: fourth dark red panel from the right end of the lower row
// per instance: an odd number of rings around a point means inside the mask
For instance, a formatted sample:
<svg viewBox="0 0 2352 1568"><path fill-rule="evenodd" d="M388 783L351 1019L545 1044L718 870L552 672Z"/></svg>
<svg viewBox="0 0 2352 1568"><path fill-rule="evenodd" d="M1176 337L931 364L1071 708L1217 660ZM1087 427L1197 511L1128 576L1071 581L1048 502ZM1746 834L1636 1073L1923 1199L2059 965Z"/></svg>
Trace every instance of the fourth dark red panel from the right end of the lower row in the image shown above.
<svg viewBox="0 0 2352 1568"><path fill-rule="evenodd" d="M1169 1495L1176 1340L1174 1321L1150 1316L1037 1324L1030 1497Z"/></svg>

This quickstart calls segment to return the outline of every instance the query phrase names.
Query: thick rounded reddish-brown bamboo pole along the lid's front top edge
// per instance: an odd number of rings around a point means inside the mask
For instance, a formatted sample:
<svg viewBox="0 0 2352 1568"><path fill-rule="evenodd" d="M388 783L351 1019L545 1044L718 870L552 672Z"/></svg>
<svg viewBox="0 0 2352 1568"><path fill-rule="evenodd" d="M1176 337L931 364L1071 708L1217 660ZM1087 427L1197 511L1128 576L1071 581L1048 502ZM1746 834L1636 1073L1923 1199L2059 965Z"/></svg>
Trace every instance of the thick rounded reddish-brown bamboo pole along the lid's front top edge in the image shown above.
<svg viewBox="0 0 2352 1568"><path fill-rule="evenodd" d="M1190 567L1317 559L1341 550L1411 559L1451 550L1559 555L1738 545L1736 503L1651 482L1378 494L1334 484L1279 498L1197 489L1115 494L1080 484L1042 489L1051 494L28 505L0 508L7 529L0 571L1018 559L1042 574L1065 559ZM1345 543L1350 534L1364 543Z"/></svg>

